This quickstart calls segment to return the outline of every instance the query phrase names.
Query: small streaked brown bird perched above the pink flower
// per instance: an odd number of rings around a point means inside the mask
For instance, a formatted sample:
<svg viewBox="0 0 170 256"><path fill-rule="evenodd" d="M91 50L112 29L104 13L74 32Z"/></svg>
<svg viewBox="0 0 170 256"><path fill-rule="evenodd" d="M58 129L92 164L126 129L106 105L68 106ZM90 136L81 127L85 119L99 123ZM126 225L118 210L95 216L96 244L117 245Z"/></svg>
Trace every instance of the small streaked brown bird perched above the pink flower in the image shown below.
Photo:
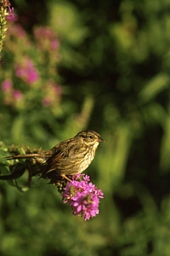
<svg viewBox="0 0 170 256"><path fill-rule="evenodd" d="M71 176L83 172L94 160L96 149L99 143L104 140L96 131L80 131L54 148L42 151L38 154L20 154L9 156L6 159L34 158L42 165L42 177L50 177L51 172L70 180L66 175Z"/></svg>

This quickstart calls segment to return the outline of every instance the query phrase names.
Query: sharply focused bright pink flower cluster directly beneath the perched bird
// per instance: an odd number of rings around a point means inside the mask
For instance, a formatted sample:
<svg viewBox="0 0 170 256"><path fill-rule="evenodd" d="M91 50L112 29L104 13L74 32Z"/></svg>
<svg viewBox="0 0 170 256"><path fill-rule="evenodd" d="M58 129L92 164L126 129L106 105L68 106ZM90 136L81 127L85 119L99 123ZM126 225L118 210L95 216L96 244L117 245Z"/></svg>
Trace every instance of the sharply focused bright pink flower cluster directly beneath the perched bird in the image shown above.
<svg viewBox="0 0 170 256"><path fill-rule="evenodd" d="M77 174L66 184L63 193L64 203L68 202L74 215L81 215L85 220L99 214L99 198L104 194L85 174Z"/></svg>

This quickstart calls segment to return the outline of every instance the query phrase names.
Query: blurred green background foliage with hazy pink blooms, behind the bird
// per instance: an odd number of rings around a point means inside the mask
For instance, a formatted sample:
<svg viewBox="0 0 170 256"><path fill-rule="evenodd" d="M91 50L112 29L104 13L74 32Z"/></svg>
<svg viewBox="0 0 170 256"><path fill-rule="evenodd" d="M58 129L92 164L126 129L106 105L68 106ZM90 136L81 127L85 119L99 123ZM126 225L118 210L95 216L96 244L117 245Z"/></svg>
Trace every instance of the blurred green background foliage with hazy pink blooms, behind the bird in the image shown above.
<svg viewBox="0 0 170 256"><path fill-rule="evenodd" d="M170 255L170 1L11 1L0 140L48 149L93 129L89 221L57 189L0 182L2 256Z"/></svg>

